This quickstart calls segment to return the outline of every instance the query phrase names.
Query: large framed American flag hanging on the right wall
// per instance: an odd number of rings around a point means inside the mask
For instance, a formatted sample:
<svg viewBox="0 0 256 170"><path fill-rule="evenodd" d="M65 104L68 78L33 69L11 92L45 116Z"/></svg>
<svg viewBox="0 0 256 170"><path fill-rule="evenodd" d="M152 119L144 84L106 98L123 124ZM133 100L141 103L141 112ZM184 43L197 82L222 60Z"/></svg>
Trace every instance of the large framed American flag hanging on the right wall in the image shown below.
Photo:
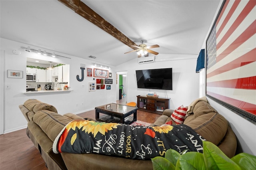
<svg viewBox="0 0 256 170"><path fill-rule="evenodd" d="M254 124L255 5L224 0L206 39L206 96Z"/></svg>

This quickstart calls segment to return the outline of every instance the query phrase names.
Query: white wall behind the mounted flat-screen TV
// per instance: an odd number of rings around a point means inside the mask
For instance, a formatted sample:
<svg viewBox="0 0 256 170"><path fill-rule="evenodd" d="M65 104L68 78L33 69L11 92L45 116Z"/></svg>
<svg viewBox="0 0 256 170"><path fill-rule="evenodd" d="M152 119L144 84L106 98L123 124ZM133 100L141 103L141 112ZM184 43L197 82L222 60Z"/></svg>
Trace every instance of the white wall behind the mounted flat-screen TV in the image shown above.
<svg viewBox="0 0 256 170"><path fill-rule="evenodd" d="M158 56L156 56L157 58ZM199 97L199 74L196 73L196 58L182 59L177 57L172 61L138 64L138 59L133 59L116 67L116 71L127 71L127 102L136 102L137 95L154 93L159 97L170 99L170 109L176 109L180 105L187 106ZM172 68L172 89L138 89L136 70Z"/></svg>

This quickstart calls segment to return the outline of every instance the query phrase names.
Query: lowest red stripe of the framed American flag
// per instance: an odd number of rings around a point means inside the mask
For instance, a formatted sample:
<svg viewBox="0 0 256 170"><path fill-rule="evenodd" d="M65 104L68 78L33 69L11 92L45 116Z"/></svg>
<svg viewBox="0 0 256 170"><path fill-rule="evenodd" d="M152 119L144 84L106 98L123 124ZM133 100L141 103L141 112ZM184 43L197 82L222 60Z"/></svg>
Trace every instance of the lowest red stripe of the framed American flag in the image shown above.
<svg viewBox="0 0 256 170"><path fill-rule="evenodd" d="M211 95L212 97L215 97L217 99L220 99L221 101L225 101L226 103L228 103L234 107L238 107L239 109L242 109L244 111L252 113L253 115L256 115L256 105L254 105L254 104L236 100L236 99L232 99L230 97L226 97L223 95L218 95L218 94L212 93L210 91L207 91L206 94Z"/></svg>

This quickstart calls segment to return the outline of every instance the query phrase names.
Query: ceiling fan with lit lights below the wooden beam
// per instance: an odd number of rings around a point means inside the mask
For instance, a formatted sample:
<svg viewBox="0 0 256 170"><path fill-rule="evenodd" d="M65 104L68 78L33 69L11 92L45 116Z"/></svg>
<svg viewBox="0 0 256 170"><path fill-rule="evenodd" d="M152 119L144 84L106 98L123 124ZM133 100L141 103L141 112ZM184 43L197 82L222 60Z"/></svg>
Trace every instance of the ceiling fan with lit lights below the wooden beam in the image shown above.
<svg viewBox="0 0 256 170"><path fill-rule="evenodd" d="M157 47L159 47L159 45L156 44L156 45L147 46L146 44L144 44L144 42L145 42L144 40L141 40L140 42L141 42L141 44L139 46L131 45L132 47L136 47L138 49L135 49L135 50L132 50L132 51L128 51L126 53L131 53L131 52L137 51L138 57L146 56L146 55L148 56L148 53L152 53L154 55L158 55L158 52L152 51L150 48L157 48Z"/></svg>

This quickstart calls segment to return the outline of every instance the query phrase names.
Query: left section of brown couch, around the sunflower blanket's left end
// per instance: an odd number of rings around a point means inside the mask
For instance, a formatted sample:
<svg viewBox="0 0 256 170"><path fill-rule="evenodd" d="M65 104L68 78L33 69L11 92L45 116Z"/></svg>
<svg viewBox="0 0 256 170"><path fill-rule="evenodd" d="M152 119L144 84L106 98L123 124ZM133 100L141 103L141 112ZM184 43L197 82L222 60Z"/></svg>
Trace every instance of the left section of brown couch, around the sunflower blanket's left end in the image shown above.
<svg viewBox="0 0 256 170"><path fill-rule="evenodd" d="M70 121L83 119L72 113L60 115L57 109L36 99L28 99L19 106L28 121L27 135L40 151L49 170L142 170L153 169L151 160L132 160L102 154L55 154L52 144ZM95 119L84 118L88 120Z"/></svg>

